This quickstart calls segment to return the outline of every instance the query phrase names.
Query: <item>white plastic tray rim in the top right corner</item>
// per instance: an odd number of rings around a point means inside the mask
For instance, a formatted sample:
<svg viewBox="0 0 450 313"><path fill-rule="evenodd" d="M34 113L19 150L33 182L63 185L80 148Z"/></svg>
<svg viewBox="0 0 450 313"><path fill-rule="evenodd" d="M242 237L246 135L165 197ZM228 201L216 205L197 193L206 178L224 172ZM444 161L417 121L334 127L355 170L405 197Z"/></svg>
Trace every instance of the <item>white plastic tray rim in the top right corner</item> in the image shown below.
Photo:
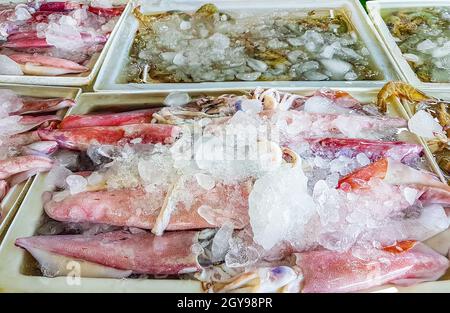
<svg viewBox="0 0 450 313"><path fill-rule="evenodd" d="M434 90L449 90L450 83L426 83L422 82L416 73L413 71L411 66L408 64L406 59L403 57L402 51L398 47L394 40L394 37L390 33L386 23L381 17L381 11L386 9L405 9L405 8L423 8L423 7L442 7L450 6L450 1L448 0L378 0L378 1L367 1L366 7L369 12L369 16L372 19L375 27L377 28L381 38L383 39L383 45L385 50L389 51L392 58L395 60L398 68L401 72L401 77L403 77L408 83L418 87L420 89L431 88Z"/></svg>

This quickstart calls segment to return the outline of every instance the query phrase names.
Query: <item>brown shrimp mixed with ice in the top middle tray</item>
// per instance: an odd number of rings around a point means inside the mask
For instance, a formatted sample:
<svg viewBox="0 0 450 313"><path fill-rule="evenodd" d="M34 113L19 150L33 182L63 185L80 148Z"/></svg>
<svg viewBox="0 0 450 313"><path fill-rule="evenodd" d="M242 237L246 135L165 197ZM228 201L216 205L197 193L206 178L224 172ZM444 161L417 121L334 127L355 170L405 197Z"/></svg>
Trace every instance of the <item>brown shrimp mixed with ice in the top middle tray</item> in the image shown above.
<svg viewBox="0 0 450 313"><path fill-rule="evenodd" d="M345 10L133 14L130 83L383 79Z"/></svg>

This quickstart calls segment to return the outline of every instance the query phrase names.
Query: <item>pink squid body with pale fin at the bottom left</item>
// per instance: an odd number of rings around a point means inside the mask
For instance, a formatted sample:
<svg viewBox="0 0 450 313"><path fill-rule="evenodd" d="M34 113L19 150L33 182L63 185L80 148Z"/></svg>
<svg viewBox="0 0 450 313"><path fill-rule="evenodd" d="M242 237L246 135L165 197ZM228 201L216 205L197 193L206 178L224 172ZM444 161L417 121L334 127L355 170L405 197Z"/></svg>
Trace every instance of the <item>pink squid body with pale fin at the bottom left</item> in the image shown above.
<svg viewBox="0 0 450 313"><path fill-rule="evenodd" d="M48 276L67 274L67 264L78 262L82 277L127 277L131 274L179 275L201 270L193 248L198 232L115 231L96 235L56 235L18 238Z"/></svg>

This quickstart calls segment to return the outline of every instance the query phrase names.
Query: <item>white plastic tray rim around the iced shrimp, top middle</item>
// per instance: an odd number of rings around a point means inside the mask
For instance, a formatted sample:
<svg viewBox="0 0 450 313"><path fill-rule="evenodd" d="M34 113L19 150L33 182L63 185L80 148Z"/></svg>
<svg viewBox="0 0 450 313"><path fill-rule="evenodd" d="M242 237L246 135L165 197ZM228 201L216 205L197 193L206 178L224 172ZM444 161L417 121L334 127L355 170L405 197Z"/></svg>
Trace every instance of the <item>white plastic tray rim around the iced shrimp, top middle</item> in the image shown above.
<svg viewBox="0 0 450 313"><path fill-rule="evenodd" d="M359 32L360 38L364 41L366 47L374 59L377 68L383 73L383 81L274 81L274 82L203 82L203 83L150 83L137 84L127 83L123 77L123 70L128 63L129 51L132 46L136 31L138 29L138 21L133 16L133 6L129 6L124 12L124 20L111 44L105 63L99 72L97 81L94 85L95 91L114 91L114 90L147 90L147 91L200 91L214 89L254 89L258 86L276 87L276 88L298 88L298 87L371 87L381 86L385 81L398 79L398 69L395 62L391 60L390 54L380 45L381 39L375 30L372 22L368 18L363 7L357 0L333 0L333 1L293 1L281 0L278 2L265 0L252 1L232 1L232 0L172 0L172 1L143 1L143 11L162 12L168 10L184 10L194 11L204 3L214 3L223 10L273 10L273 9L344 9L348 17L351 19L356 30Z"/></svg>

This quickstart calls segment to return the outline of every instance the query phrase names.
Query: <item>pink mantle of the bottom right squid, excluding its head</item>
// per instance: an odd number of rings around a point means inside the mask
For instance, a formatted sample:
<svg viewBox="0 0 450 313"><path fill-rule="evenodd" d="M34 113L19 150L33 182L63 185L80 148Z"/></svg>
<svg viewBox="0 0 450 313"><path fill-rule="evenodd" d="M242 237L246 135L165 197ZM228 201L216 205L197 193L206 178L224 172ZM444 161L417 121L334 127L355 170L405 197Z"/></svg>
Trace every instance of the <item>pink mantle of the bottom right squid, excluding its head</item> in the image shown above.
<svg viewBox="0 0 450 313"><path fill-rule="evenodd" d="M387 283L408 286L434 281L449 267L446 257L424 244L399 244L397 249L296 253L302 292L354 292Z"/></svg>

